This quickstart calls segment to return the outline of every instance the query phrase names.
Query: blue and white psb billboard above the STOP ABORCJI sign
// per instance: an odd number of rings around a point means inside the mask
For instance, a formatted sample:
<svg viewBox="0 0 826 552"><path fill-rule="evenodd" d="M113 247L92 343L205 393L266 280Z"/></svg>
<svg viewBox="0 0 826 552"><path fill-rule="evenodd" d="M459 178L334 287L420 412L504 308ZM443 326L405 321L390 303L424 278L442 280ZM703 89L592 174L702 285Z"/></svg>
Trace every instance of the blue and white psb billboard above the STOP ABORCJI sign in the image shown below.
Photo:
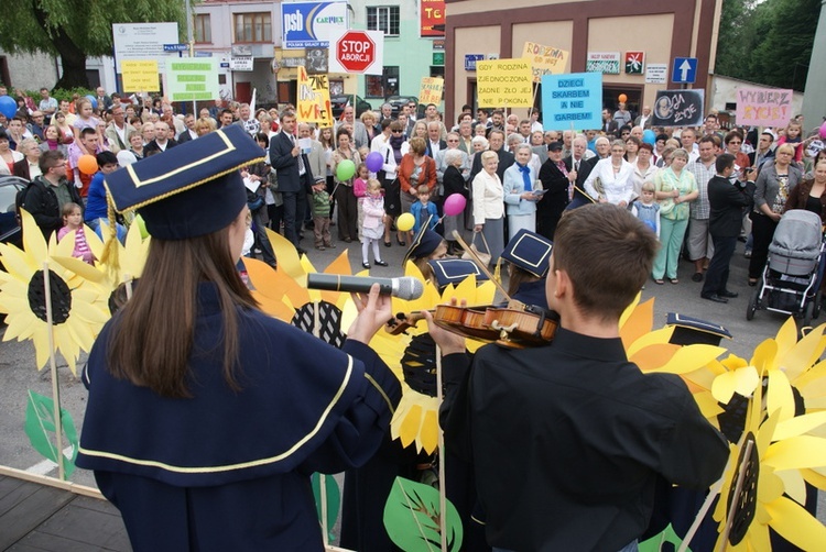
<svg viewBox="0 0 826 552"><path fill-rule="evenodd" d="M282 2L285 49L329 47L332 32L347 30L347 2Z"/></svg>

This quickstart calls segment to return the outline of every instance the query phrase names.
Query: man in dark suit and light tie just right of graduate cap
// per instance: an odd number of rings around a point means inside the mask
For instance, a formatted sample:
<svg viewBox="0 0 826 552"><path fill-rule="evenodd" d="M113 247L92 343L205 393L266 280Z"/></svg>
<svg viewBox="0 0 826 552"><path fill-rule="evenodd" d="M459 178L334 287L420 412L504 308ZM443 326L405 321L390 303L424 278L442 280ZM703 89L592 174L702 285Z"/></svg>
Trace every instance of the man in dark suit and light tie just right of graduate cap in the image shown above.
<svg viewBox="0 0 826 552"><path fill-rule="evenodd" d="M295 112L281 113L281 132L270 142L270 166L279 177L279 191L284 200L284 234L298 253L298 232L307 208L307 192L313 186L309 159L301 153L295 140Z"/></svg>

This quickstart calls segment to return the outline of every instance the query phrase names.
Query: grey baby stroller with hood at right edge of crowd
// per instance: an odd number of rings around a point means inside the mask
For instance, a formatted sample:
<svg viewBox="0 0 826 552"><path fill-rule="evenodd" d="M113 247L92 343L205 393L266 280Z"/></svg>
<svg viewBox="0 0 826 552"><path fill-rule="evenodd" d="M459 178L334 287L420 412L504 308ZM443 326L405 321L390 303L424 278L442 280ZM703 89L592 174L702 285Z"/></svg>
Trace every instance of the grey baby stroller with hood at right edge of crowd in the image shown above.
<svg viewBox="0 0 826 552"><path fill-rule="evenodd" d="M824 255L820 217L793 209L780 219L769 245L769 262L746 311L760 309L792 314L808 325L820 313L820 260Z"/></svg>

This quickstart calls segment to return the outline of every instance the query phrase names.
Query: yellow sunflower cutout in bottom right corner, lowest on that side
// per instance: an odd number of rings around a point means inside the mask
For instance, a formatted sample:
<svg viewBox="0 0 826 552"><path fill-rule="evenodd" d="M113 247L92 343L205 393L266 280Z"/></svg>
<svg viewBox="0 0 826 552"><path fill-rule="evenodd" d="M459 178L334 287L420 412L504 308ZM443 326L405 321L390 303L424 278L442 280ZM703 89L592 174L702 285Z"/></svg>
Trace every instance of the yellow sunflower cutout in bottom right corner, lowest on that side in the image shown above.
<svg viewBox="0 0 826 552"><path fill-rule="evenodd" d="M769 528L803 550L823 550L826 527L802 504L804 481L826 488L815 472L826 464L826 439L815 434L823 434L826 412L790 417L792 389L783 372L763 367L759 375L768 376L765 397L763 385L756 385L743 437L731 445L714 512L720 532L715 550L768 552Z"/></svg>

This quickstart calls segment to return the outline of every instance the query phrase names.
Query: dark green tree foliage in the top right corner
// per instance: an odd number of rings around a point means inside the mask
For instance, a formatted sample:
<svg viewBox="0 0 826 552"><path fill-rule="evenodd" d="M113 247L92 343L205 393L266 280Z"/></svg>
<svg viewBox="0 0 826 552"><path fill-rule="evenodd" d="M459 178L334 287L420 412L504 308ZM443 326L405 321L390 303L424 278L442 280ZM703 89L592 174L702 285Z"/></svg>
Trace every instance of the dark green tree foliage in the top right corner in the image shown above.
<svg viewBox="0 0 826 552"><path fill-rule="evenodd" d="M722 0L715 73L803 90L822 0Z"/></svg>

